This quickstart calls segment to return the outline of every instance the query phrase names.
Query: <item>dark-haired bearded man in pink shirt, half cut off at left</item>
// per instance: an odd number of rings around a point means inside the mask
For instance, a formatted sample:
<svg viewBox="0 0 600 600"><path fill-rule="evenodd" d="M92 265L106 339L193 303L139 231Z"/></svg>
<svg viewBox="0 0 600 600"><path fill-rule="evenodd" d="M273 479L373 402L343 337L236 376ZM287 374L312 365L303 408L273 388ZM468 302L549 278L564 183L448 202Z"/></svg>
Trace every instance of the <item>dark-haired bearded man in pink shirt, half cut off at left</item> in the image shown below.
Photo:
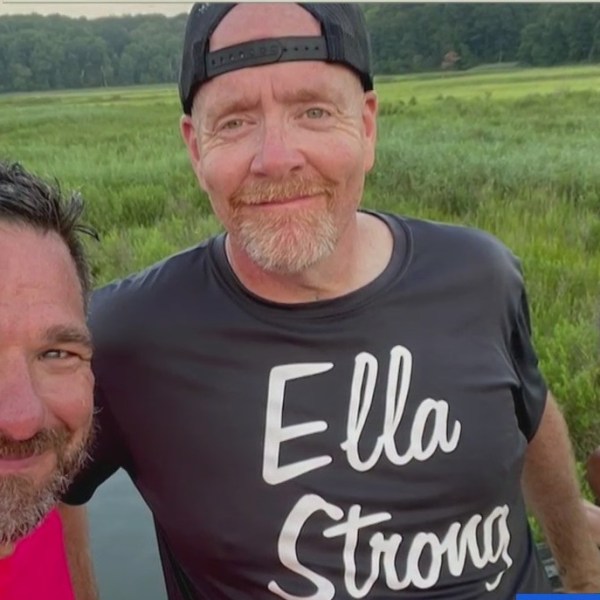
<svg viewBox="0 0 600 600"><path fill-rule="evenodd" d="M0 163L0 598L73 600L60 495L92 421L82 201Z"/></svg>

